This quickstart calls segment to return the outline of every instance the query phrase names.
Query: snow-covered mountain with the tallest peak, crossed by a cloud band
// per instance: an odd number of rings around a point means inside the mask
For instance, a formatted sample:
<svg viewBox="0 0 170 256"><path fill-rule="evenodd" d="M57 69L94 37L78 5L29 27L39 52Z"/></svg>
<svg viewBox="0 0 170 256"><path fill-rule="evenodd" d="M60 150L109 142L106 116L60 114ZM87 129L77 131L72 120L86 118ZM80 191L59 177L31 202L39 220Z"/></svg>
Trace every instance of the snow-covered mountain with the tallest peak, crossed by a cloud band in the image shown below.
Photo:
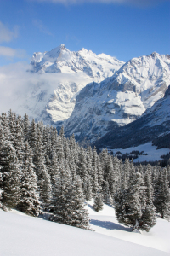
<svg viewBox="0 0 170 256"><path fill-rule="evenodd" d="M96 55L91 50L81 49L71 52L64 44L48 52L34 53L31 60L31 72L40 75L53 73L53 88L49 90L39 84L37 98L46 97L43 102L41 118L50 122L68 119L74 109L75 99L82 88L92 82L100 82L111 77L122 67L123 61L118 61L110 55ZM37 104L37 102L35 102ZM29 105L28 103L26 104ZM39 113L39 106L34 108Z"/></svg>

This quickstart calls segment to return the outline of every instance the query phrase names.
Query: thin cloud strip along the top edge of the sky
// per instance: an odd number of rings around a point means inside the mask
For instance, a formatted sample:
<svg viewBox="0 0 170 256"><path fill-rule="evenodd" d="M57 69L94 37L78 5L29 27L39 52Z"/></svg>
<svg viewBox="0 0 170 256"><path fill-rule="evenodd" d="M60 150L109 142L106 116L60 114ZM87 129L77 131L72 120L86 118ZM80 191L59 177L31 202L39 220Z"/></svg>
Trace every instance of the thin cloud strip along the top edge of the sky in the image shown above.
<svg viewBox="0 0 170 256"><path fill-rule="evenodd" d="M63 3L68 4L80 4L80 3L119 3L119 4L132 4L138 6L150 6L156 3L167 2L170 0L29 0L31 2L48 2L48 3Z"/></svg>

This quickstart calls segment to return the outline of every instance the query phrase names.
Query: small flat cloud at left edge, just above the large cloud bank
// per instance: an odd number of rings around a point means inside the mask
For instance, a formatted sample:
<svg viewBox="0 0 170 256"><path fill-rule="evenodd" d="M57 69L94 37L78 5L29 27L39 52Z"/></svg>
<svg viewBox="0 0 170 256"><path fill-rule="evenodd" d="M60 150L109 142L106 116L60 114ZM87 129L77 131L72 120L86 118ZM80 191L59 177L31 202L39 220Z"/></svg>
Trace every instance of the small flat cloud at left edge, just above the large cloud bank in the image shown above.
<svg viewBox="0 0 170 256"><path fill-rule="evenodd" d="M0 57L8 58L24 58L26 56L26 51L24 49L13 49L6 46L0 46Z"/></svg>

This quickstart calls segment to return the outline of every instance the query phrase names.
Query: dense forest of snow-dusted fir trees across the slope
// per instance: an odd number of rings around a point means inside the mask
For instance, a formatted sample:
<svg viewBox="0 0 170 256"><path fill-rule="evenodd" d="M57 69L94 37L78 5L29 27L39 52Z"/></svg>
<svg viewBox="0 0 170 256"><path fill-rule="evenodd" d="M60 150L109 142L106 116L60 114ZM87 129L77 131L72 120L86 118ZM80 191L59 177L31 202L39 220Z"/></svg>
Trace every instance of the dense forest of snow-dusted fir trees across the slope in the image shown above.
<svg viewBox="0 0 170 256"><path fill-rule="evenodd" d="M116 218L149 231L170 216L170 166L134 166L107 150L82 148L74 135L29 122L12 111L0 116L0 207L32 216L50 212L50 220L89 229L85 201L114 205Z"/></svg>

